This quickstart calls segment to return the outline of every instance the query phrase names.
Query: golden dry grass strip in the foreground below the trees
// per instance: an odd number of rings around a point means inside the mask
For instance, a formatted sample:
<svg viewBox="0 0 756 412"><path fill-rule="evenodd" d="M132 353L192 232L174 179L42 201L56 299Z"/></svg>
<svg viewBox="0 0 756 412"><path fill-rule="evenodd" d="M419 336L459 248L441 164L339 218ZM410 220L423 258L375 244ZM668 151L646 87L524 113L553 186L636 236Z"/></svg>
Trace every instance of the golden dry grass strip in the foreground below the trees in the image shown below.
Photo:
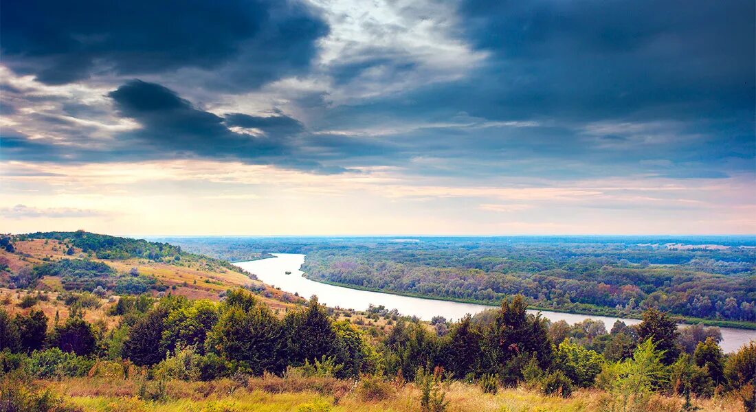
<svg viewBox="0 0 756 412"><path fill-rule="evenodd" d="M240 383L231 379L212 382L185 383L169 381L164 403L144 402L135 398L138 380L71 378L46 382L63 393L84 410L296 410L299 405L316 400L326 401L332 410L344 412L419 410L420 391L407 384L394 388L387 398L366 401L360 396L358 385L349 380L328 378L279 378L265 376ZM526 389L503 389L497 395L484 394L477 386L455 382L449 386L446 400L449 412L550 412L606 410L606 392L581 390L571 398L549 397ZM733 398L693 400L702 411L742 412L742 405ZM128 405L130 409L118 409ZM221 407L218 409L218 407ZM649 412L677 412L680 398L655 396Z"/></svg>

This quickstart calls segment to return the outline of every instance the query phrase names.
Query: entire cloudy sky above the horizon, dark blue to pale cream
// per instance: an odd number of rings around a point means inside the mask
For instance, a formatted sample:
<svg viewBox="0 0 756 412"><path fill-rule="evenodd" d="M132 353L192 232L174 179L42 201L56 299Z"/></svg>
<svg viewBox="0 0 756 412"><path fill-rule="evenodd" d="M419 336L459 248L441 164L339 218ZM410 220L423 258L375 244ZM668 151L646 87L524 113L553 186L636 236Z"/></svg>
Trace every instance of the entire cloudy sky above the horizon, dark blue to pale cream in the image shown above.
<svg viewBox="0 0 756 412"><path fill-rule="evenodd" d="M756 234L752 0L2 0L0 232Z"/></svg>

